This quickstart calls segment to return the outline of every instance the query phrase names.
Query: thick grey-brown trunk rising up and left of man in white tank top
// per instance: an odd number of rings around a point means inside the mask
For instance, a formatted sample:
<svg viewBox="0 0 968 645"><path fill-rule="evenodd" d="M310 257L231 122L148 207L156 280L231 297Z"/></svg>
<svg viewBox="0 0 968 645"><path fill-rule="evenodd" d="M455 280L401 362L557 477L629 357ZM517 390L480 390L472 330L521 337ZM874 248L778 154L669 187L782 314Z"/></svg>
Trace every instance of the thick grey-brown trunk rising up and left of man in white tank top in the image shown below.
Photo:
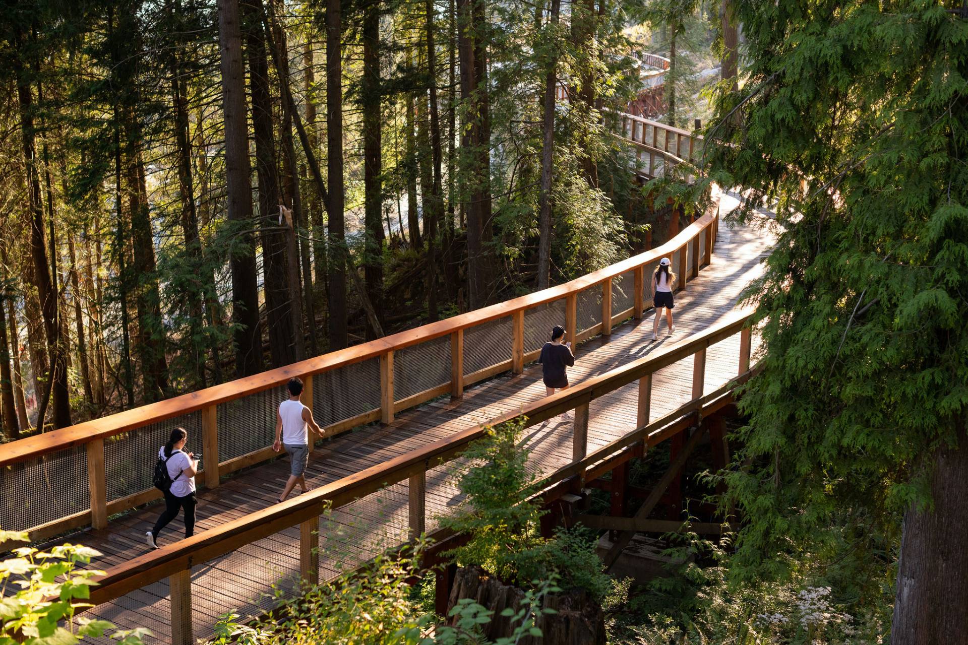
<svg viewBox="0 0 968 645"><path fill-rule="evenodd" d="M249 127L245 113L245 76L238 0L218 0L222 105L226 124L226 192L228 220L240 229L252 224L249 179ZM243 234L231 253L232 322L235 325L235 372L248 376L262 369L258 321L256 250Z"/></svg>

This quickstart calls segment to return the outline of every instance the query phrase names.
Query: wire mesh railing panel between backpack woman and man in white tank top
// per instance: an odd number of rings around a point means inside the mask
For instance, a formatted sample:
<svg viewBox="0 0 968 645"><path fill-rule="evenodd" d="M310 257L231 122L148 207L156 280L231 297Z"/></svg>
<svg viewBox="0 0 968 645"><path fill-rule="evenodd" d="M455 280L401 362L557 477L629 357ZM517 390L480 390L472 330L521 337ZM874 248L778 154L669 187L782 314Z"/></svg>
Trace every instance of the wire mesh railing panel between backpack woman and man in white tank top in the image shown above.
<svg viewBox="0 0 968 645"><path fill-rule="evenodd" d="M219 403L219 461L268 448L276 438L276 413L289 397L285 385Z"/></svg>

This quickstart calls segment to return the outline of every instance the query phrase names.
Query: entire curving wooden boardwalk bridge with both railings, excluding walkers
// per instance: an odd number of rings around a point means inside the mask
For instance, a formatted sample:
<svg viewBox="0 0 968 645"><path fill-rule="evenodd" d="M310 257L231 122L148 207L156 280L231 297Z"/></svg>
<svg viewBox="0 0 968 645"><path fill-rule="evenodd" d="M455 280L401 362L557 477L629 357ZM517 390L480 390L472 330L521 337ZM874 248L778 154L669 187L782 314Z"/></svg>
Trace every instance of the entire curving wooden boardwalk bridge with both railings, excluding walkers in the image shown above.
<svg viewBox="0 0 968 645"><path fill-rule="evenodd" d="M645 176L694 152L689 132L630 115L620 127ZM720 226L720 212L736 204L720 199L660 247L583 278L0 446L0 527L101 551L92 566L106 575L88 615L148 628L152 640L173 645L210 636L221 614L257 614L278 601L275 590L354 568L413 533L445 544L437 518L460 501L460 454L483 424L517 415L528 417L533 465L549 478L542 495L559 513L562 500L612 472L612 514L622 514L628 461L672 440L670 472L630 520L636 528L675 487L704 432L722 445L717 414L750 373L756 335L736 304L771 243L761 230ZM663 322L653 342L649 278L662 256L672 258L681 291L675 335L665 336ZM531 362L556 324L578 360L572 388L544 397ZM288 466L271 444L292 376L337 436L311 456L312 490L277 504ZM159 508L143 507L160 496L152 468L175 425L203 454L197 533L179 540L176 520L162 548L149 551L144 533ZM619 534L610 558L630 536ZM439 572L439 600L448 576Z"/></svg>

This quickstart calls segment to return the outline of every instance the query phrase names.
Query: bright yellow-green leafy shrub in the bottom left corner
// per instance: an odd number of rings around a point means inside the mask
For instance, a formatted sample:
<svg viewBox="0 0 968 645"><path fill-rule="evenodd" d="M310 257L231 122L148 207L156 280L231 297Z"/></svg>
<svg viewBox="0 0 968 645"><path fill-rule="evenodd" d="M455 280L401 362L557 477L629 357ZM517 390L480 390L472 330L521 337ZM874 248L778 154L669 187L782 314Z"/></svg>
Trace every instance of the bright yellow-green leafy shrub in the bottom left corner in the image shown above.
<svg viewBox="0 0 968 645"><path fill-rule="evenodd" d="M26 533L0 531L0 544L27 542ZM0 645L74 645L81 638L109 634L120 645L140 645L150 632L143 628L117 630L103 620L79 616L76 610L92 606L92 578L104 572L78 569L101 555L87 546L63 544L49 551L31 546L15 548L14 557L0 562ZM11 588L19 589L9 594ZM79 601L78 601L79 600ZM63 622L64 626L61 626Z"/></svg>

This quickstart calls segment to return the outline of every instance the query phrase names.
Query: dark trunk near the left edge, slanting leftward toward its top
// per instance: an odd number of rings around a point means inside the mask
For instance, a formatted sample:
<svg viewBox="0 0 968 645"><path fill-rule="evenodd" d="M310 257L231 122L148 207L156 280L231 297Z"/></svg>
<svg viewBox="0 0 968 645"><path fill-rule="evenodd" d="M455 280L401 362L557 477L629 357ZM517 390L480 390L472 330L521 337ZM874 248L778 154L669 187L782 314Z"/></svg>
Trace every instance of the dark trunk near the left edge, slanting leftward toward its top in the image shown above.
<svg viewBox="0 0 968 645"><path fill-rule="evenodd" d="M23 38L16 41L23 43ZM23 65L18 56L14 56L16 75L16 91L20 111L20 131L24 162L27 167L28 203L31 213L30 236L31 250L34 262L34 279L37 293L41 301L41 311L44 316L44 328L47 341L47 353L50 357L50 375L52 379L51 393L53 396L53 424L54 427L71 425L71 404L67 383L67 358L63 351L60 337L60 325L57 318L57 293L50 275L50 265L47 263L46 241L44 235L44 204L41 201L41 182L37 170L37 152L34 131L34 104L30 81L26 77ZM56 252L56 249L51 249ZM41 407L45 407L42 399ZM42 416L38 419L38 427L44 426L44 409L40 409Z"/></svg>

